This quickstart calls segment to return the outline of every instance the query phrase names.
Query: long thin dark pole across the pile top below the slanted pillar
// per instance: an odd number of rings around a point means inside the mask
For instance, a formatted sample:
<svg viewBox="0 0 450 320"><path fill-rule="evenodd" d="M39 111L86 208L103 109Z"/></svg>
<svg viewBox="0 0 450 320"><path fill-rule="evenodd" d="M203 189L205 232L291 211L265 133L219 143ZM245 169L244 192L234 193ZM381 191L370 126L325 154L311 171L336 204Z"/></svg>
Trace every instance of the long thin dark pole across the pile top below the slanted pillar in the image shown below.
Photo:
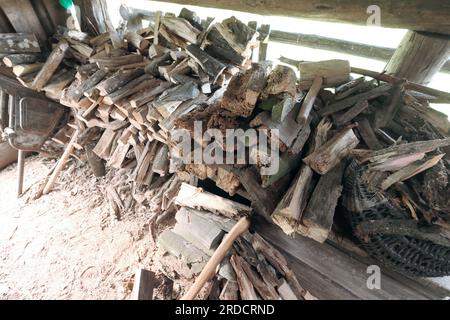
<svg viewBox="0 0 450 320"><path fill-rule="evenodd" d="M351 71L352 71L352 73L357 73L357 74L361 74L364 76L372 77L374 79L392 83L392 84L402 81L402 79L400 79L398 77L394 77L391 75L387 75L385 73L379 73L376 71L366 70L366 69L362 69L362 68L352 67ZM409 81L407 81L405 83L405 89L420 92L420 93L435 97L436 100L433 101L434 103L449 103L450 102L450 93L449 92L432 89L432 88L429 88L429 87L426 87L426 86L423 86L423 85L420 85L420 84L417 84L414 82L409 82Z"/></svg>

